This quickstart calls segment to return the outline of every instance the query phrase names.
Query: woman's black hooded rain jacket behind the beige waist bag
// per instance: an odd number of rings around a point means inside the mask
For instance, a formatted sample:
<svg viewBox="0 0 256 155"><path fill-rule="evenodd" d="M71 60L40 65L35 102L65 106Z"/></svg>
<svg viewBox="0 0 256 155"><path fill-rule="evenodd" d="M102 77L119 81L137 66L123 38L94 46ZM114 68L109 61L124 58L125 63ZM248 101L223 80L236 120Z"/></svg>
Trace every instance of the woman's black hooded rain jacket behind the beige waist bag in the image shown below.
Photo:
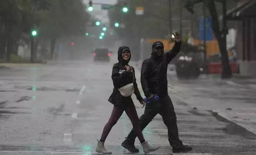
<svg viewBox="0 0 256 155"><path fill-rule="evenodd" d="M136 95L139 102L143 101L142 96L140 95L140 91L138 89L138 85L136 83L136 77L135 77L135 70L132 66L131 71L128 72L125 70L125 65L128 65L130 59L128 61L124 61L122 58L122 51L124 49L129 49L127 46L121 46L118 49L118 62L114 64L112 68L112 81L114 85L113 93L109 97L109 102L111 102L114 105L126 105L126 104L133 104L131 96L124 97L120 94L118 89L120 87L123 87L124 85L127 85L129 83L132 83L134 81L134 94Z"/></svg>

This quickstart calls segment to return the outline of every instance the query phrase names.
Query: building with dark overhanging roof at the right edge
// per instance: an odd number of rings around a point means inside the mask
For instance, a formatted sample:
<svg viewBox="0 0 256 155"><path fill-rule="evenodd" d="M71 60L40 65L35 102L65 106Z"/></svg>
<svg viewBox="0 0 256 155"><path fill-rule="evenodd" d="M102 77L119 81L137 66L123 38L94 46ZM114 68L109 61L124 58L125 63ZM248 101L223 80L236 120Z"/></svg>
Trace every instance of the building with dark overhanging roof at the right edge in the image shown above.
<svg viewBox="0 0 256 155"><path fill-rule="evenodd" d="M240 0L227 12L227 20L237 21L237 64L240 74L256 77L256 0Z"/></svg>

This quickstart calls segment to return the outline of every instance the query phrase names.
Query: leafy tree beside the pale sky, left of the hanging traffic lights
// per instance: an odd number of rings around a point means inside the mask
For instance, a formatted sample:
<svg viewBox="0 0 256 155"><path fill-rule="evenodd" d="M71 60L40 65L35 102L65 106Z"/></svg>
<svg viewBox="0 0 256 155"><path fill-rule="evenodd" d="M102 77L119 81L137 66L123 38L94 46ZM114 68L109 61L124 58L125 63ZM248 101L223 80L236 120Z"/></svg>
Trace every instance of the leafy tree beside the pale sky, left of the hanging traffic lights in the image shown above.
<svg viewBox="0 0 256 155"><path fill-rule="evenodd" d="M45 11L39 25L43 39L50 39L50 53L53 57L58 38L84 35L85 23L89 14L81 0L55 0L49 11Z"/></svg>

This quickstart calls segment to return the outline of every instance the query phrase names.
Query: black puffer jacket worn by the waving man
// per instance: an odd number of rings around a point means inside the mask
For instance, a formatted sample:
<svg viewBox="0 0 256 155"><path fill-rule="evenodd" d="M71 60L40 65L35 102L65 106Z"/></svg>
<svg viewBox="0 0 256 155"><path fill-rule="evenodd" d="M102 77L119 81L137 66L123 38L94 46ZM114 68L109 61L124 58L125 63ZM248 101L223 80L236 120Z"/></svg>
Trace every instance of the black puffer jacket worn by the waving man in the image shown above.
<svg viewBox="0 0 256 155"><path fill-rule="evenodd" d="M160 98L168 95L167 67L169 62L180 51L181 42L175 43L173 49L163 54L161 59L156 59L153 54L142 63L141 83L145 96L158 95Z"/></svg>

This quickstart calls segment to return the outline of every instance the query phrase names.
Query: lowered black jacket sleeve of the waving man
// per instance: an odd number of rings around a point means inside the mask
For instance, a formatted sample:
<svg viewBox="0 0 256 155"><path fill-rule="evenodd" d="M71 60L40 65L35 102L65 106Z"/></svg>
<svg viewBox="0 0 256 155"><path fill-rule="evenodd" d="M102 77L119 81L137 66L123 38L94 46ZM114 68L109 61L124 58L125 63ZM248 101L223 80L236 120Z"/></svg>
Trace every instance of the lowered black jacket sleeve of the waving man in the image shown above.
<svg viewBox="0 0 256 155"><path fill-rule="evenodd" d="M140 83L142 83L142 89L146 98L152 95L149 88L149 62L148 59L145 59L142 63L142 69L140 74Z"/></svg>

